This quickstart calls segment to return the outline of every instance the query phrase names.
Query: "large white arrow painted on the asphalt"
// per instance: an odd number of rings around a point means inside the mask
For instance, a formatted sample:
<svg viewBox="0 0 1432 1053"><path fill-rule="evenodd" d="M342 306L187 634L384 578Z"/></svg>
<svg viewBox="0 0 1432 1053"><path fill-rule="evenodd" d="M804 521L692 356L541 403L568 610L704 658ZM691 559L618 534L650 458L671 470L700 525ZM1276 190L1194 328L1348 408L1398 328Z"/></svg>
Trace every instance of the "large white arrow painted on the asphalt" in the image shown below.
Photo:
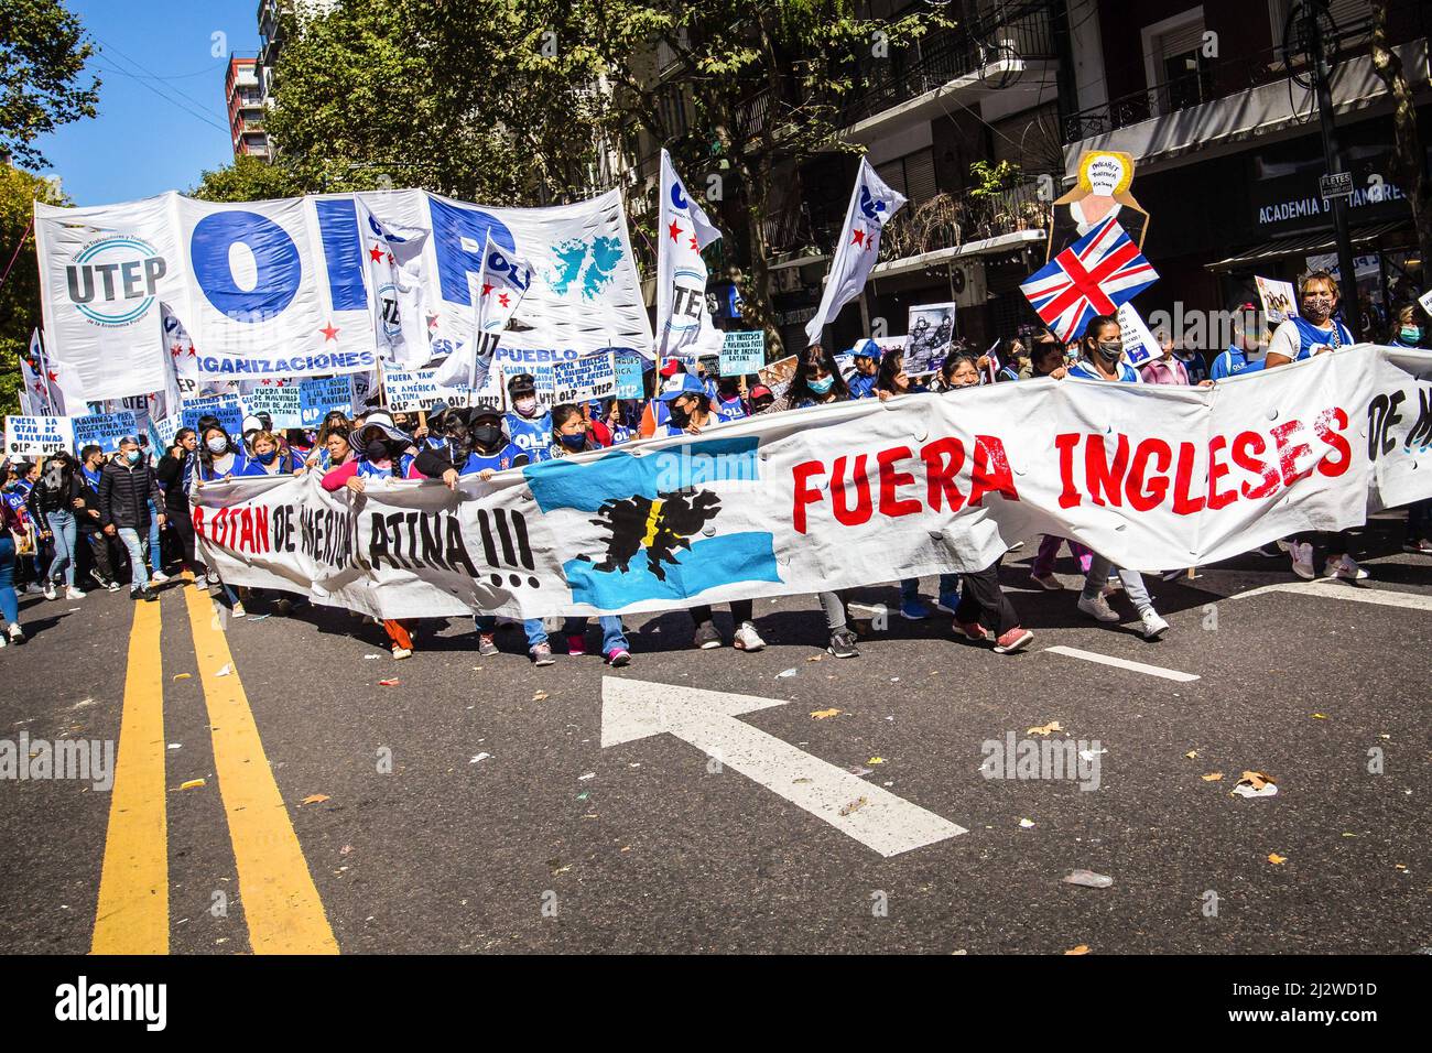
<svg viewBox="0 0 1432 1053"><path fill-rule="evenodd" d="M967 832L736 719L780 705L772 698L607 676L601 681L601 746L669 732L886 858ZM865 804L852 808L861 798Z"/></svg>

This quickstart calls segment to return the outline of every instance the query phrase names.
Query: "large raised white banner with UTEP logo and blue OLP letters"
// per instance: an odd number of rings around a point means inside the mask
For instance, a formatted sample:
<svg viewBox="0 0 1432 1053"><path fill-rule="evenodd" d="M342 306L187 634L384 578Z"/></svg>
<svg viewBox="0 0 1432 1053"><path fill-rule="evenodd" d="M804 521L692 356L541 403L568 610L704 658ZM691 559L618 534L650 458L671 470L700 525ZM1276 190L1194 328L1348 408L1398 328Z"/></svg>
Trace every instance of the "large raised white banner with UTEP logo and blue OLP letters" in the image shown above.
<svg viewBox="0 0 1432 1053"><path fill-rule="evenodd" d="M652 355L620 193L546 209L480 208L422 191L362 195L384 223L427 231L424 328L434 357L471 338L488 234L533 268L504 337L513 350ZM199 377L365 372L375 337L354 195L242 205L166 193L93 208L34 206L46 335L89 400L165 387L160 301Z"/></svg>

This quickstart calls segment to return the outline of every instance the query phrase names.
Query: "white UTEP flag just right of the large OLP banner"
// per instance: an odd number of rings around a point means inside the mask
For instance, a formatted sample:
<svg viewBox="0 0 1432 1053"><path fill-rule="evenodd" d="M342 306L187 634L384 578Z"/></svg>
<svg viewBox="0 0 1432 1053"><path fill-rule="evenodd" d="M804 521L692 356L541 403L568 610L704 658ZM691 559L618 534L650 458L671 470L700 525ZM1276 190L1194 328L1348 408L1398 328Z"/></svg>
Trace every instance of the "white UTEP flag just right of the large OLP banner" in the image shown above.
<svg viewBox="0 0 1432 1053"><path fill-rule="evenodd" d="M720 238L702 206L686 193L672 158L662 150L662 225L656 254L656 357L683 348L716 354L722 337L706 311L702 249Z"/></svg>

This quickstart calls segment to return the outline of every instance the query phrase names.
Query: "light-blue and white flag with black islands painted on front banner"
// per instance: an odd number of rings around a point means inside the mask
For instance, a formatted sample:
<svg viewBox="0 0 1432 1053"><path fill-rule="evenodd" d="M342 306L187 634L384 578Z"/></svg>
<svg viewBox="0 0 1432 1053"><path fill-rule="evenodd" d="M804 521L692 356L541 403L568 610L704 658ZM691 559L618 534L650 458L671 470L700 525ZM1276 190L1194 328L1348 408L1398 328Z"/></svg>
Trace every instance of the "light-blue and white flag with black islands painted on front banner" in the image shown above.
<svg viewBox="0 0 1432 1053"><path fill-rule="evenodd" d="M750 530L742 511L743 491L759 479L759 441L709 438L523 468L543 521L580 552L561 567L571 602L614 610L780 582L775 536Z"/></svg>

